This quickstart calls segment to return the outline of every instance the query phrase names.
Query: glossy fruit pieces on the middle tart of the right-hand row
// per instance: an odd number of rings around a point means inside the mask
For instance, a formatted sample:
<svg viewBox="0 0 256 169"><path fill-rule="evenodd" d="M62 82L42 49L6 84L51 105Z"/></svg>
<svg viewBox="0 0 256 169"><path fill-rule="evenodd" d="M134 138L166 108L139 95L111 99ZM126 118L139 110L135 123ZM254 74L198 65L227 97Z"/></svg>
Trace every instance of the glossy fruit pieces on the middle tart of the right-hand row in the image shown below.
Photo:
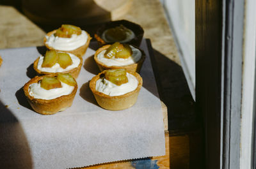
<svg viewBox="0 0 256 169"><path fill-rule="evenodd" d="M115 58L127 59L132 55L132 49L129 45L123 45L119 42L113 43L106 52L104 57L110 59L115 56Z"/></svg>

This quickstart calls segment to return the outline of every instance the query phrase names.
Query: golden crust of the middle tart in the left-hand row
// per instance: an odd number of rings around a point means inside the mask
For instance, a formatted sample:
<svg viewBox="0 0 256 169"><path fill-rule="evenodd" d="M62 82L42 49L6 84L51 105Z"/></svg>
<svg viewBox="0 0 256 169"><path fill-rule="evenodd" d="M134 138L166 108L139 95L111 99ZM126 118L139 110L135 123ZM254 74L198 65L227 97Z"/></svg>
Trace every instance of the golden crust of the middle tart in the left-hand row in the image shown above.
<svg viewBox="0 0 256 169"><path fill-rule="evenodd" d="M47 72L47 71L40 71L38 70L37 66L38 66L38 61L39 61L39 57L35 60L34 64L33 64L33 68L36 71L36 73L38 73L38 75L58 75L58 73L69 73L70 75L72 75L72 77L77 78L80 71L81 71L81 67L83 64L83 59L80 55L77 55L77 57L80 60L80 63L78 64L78 66L72 70L69 71L62 71L62 72L56 72L56 73L51 73L51 72Z"/></svg>

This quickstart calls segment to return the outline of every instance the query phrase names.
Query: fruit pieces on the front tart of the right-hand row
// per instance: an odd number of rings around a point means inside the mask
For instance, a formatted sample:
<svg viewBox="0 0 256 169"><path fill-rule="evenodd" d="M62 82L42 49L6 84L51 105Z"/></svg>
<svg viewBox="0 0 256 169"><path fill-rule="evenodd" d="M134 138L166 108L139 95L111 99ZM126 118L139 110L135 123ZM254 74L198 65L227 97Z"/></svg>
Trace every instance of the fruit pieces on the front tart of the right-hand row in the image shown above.
<svg viewBox="0 0 256 169"><path fill-rule="evenodd" d="M116 85L122 85L128 82L125 69L106 70L105 78Z"/></svg>

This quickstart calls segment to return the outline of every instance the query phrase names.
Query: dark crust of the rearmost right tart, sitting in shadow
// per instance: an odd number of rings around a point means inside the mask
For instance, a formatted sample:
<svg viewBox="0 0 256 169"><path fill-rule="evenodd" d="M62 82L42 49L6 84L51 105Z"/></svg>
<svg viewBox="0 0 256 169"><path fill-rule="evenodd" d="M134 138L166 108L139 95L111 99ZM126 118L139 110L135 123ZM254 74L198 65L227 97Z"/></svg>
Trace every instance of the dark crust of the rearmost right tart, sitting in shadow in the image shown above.
<svg viewBox="0 0 256 169"><path fill-rule="evenodd" d="M99 29L97 29L97 32L94 34L95 39L98 41L100 46L115 42L115 41L104 40L104 38L102 37L102 34L104 33L104 31L111 29L113 27L118 27L118 26L124 26L127 29L130 29L134 33L134 38L132 38L131 40L125 43L140 47L140 43L144 34L143 28L140 25L130 22L128 20L116 20L116 21L106 22L105 24L100 26Z"/></svg>

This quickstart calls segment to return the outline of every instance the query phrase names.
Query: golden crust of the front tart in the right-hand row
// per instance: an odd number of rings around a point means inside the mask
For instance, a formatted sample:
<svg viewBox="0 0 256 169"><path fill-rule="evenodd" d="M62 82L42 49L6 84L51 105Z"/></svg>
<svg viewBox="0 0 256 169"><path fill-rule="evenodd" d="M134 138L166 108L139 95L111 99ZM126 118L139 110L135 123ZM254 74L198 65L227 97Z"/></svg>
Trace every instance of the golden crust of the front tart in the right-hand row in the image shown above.
<svg viewBox="0 0 256 169"><path fill-rule="evenodd" d="M143 80L138 73L129 71L127 72L136 77L136 79L138 80L138 86L134 91L127 92L126 94L120 96L108 96L107 94L99 92L95 89L97 80L102 77L105 71L102 71L101 73L92 78L89 86L100 107L107 110L124 110L126 108L132 107L136 103Z"/></svg>

